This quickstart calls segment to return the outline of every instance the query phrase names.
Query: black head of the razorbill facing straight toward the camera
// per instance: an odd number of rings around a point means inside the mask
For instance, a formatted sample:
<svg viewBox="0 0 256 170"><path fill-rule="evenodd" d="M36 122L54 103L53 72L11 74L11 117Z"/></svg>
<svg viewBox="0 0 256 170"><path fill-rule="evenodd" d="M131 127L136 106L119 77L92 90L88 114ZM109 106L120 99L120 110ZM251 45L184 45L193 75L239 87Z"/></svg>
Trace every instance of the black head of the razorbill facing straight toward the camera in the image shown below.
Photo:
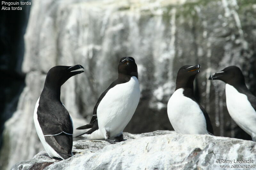
<svg viewBox="0 0 256 170"><path fill-rule="evenodd" d="M135 76L138 78L138 69L135 63L134 58L132 57L123 57L121 58L119 65L118 65L118 73Z"/></svg>

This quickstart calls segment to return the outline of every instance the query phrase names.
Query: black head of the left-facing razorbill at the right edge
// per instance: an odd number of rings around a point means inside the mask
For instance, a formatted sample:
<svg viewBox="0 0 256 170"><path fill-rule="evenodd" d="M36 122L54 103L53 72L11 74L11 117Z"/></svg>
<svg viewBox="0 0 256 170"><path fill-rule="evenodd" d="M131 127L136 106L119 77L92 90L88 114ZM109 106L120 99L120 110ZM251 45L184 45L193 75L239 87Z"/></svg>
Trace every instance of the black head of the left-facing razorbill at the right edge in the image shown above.
<svg viewBox="0 0 256 170"><path fill-rule="evenodd" d="M209 80L222 80L229 85L245 84L244 75L237 66L229 66L219 72L213 73L209 77Z"/></svg>

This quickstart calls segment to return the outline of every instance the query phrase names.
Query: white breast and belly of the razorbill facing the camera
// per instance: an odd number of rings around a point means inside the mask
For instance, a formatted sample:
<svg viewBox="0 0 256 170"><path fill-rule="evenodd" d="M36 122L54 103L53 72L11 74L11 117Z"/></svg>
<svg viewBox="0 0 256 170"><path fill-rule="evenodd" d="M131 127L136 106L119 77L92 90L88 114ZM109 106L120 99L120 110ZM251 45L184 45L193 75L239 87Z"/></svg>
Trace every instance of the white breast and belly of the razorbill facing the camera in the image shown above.
<svg viewBox="0 0 256 170"><path fill-rule="evenodd" d="M124 130L131 120L140 99L140 86L136 77L109 89L97 109L99 129L110 132L111 137Z"/></svg>

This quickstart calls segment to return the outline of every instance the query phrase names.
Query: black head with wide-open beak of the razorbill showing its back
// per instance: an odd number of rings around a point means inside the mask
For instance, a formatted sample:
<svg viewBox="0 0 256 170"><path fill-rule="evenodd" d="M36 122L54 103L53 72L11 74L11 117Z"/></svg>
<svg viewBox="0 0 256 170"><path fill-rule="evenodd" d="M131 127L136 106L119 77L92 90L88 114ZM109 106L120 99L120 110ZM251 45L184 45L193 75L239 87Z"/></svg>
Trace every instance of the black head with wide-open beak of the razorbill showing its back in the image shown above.
<svg viewBox="0 0 256 170"><path fill-rule="evenodd" d="M60 87L70 77L75 76L76 74L83 73L83 70L84 67L81 65L52 67L47 73L44 85Z"/></svg>

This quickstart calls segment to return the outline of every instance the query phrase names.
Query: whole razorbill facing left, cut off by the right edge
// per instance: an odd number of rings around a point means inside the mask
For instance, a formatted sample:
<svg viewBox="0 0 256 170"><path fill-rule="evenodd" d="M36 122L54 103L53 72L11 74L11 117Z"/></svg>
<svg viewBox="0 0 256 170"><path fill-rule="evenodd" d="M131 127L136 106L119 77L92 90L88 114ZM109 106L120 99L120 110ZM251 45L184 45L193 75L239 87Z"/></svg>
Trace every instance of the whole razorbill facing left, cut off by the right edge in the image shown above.
<svg viewBox="0 0 256 170"><path fill-rule="evenodd" d="M209 80L226 83L228 113L236 124L256 141L256 97L245 85L244 75L239 67L229 66L213 73Z"/></svg>

